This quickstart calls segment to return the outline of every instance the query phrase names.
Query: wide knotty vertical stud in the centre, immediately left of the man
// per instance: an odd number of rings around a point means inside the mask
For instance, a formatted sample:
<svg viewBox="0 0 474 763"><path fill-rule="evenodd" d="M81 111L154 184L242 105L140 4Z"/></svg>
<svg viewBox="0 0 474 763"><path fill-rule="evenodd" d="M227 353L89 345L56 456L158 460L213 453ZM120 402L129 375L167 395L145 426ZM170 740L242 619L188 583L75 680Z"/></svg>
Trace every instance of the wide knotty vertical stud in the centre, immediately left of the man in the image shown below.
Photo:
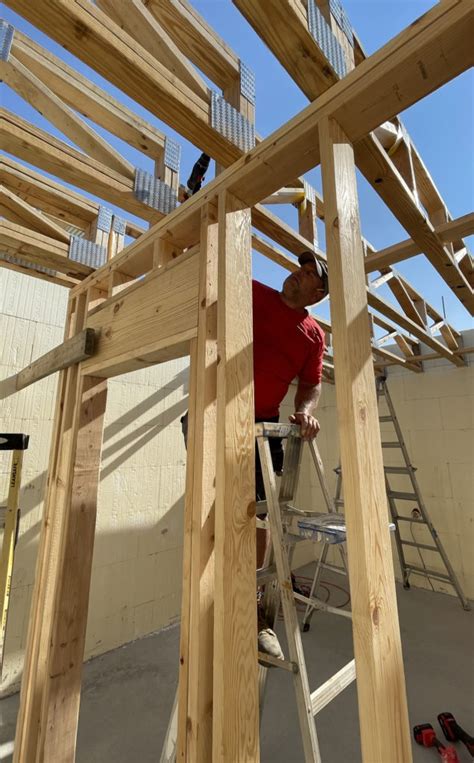
<svg viewBox="0 0 474 763"><path fill-rule="evenodd" d="M259 760L250 210L219 195L213 757Z"/></svg>

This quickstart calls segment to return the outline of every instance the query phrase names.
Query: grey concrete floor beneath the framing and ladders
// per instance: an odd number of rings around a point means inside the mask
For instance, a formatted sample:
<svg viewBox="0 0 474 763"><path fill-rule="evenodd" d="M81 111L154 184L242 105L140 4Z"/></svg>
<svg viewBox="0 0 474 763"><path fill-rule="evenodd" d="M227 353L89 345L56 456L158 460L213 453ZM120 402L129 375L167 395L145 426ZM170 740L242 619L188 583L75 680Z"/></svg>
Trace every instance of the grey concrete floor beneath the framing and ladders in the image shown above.
<svg viewBox="0 0 474 763"><path fill-rule="evenodd" d="M331 588L331 603L342 604L342 595ZM410 724L432 723L440 732L436 716L450 711L474 733L474 615L442 594L400 589L398 599ZM352 657L350 621L343 618L316 614L303 639L313 689ZM175 692L178 642L179 629L170 628L85 666L78 763L157 763ZM262 763L303 761L291 684L289 673L269 671ZM1 763L11 761L17 708L18 695L0 702ZM355 685L318 715L317 728L324 763L361 760ZM471 760L462 745L456 748L460 761ZM416 745L413 753L415 763L440 760Z"/></svg>

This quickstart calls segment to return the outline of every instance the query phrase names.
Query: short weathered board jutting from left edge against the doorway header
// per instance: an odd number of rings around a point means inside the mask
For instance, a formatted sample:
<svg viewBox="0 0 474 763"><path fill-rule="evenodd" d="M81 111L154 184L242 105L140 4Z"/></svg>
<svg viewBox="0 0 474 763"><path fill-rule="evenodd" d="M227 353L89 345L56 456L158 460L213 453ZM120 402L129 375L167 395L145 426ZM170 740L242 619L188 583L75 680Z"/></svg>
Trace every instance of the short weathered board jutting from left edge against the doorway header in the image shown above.
<svg viewBox="0 0 474 763"><path fill-rule="evenodd" d="M45 376L90 358L94 354L95 338L93 329L84 329L37 358L29 366L15 374L16 389L24 389L30 384L44 379Z"/></svg>

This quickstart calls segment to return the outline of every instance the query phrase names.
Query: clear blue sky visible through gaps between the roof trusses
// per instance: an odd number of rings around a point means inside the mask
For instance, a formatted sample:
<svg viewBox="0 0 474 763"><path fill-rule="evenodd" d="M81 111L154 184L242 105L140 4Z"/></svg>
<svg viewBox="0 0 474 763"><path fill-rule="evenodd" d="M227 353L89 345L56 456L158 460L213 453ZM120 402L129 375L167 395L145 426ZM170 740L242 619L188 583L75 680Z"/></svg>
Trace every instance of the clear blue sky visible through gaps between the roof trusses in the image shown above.
<svg viewBox="0 0 474 763"><path fill-rule="evenodd" d="M307 105L305 96L267 50L243 16L232 5L231 0L192 0L192 2L245 63L255 71L257 80L256 124L261 135L270 134ZM397 2L394 0L346 0L345 8L366 53L370 54L429 10L433 4L432 0L397 0ZM141 106L124 96L10 9L3 7L2 16L95 82L101 84L116 97L128 103L136 112L149 119L164 132L177 138L183 151L182 180L186 180L187 173L198 156L199 147L191 146L181 136L173 133L167 125L161 123ZM22 101L5 86L2 87L2 105L19 113L43 129L64 138L29 104ZM404 112L402 117L453 217L471 212L474 209L474 77L472 71L464 73L461 77L415 104ZM130 162L144 169L151 169L149 160L142 154L100 128L97 129L110 143L122 151ZM318 190L321 190L318 169L308 173L308 179ZM364 236L376 248L389 246L407 238L407 234L397 220L360 175L358 176L358 187ZM108 206L111 205L108 204ZM296 227L296 211L292 207L278 206L271 209ZM127 216L130 217L130 215ZM322 225L319 226L319 235L321 246L324 248ZM471 237L470 242L468 242L471 245L471 250L473 241L474 239ZM447 318L456 328L472 326L472 319L467 311L450 289L446 287L426 258L415 257L400 263L396 267L419 291L422 291L423 295L439 312L442 312L442 297L444 297ZM278 287L285 271L260 255L256 255L254 274L260 280ZM380 293L383 296L390 294L386 287L382 287ZM324 316L328 315L326 306L321 306L316 312Z"/></svg>

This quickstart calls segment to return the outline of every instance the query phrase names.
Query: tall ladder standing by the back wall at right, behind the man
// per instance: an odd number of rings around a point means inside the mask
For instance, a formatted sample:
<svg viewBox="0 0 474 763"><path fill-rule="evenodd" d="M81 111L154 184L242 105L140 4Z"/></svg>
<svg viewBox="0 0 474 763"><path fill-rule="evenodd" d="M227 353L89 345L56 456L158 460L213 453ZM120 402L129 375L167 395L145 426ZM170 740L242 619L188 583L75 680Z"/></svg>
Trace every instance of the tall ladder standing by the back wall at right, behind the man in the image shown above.
<svg viewBox="0 0 474 763"><path fill-rule="evenodd" d="M466 599L459 580L454 572L451 563L448 559L443 544L441 543L438 533L429 517L426 509L423 497L420 492L418 480L416 478L416 467L412 465L410 456L403 439L402 430L395 413L395 408L390 397L390 393L387 387L386 378L384 376L377 377L377 400L379 404L379 421L381 424L391 424L394 430L394 439L382 440L383 450L396 449L401 453L403 463L400 466L385 466L385 486L387 491L387 500L390 509L392 521L395 524L395 545L397 548L397 554L400 561L400 568L402 572L403 587L410 588L410 575L421 575L431 583L433 580L438 580L443 583L451 585L461 602L462 607L469 611L471 609L468 600ZM383 401L385 401L385 406ZM384 412L385 409L387 412ZM344 500L342 497L342 471L338 467L336 470L337 482L336 482L336 494L335 494L335 507L336 510L344 506ZM401 475L409 481L409 487L407 490L394 490L391 487L390 479L391 475ZM402 506L409 506L408 510L402 509ZM429 531L431 542L423 543L416 539L414 534L414 527L424 525ZM411 531L411 539L404 537L400 531L401 526L408 526ZM415 548L420 558L420 564L412 564L407 562L405 556L405 548ZM423 558L423 551L430 551L431 553L437 553L442 559L445 573L438 570L430 569ZM316 577L316 576L315 576ZM318 581L313 581L315 584L315 590L318 587Z"/></svg>

